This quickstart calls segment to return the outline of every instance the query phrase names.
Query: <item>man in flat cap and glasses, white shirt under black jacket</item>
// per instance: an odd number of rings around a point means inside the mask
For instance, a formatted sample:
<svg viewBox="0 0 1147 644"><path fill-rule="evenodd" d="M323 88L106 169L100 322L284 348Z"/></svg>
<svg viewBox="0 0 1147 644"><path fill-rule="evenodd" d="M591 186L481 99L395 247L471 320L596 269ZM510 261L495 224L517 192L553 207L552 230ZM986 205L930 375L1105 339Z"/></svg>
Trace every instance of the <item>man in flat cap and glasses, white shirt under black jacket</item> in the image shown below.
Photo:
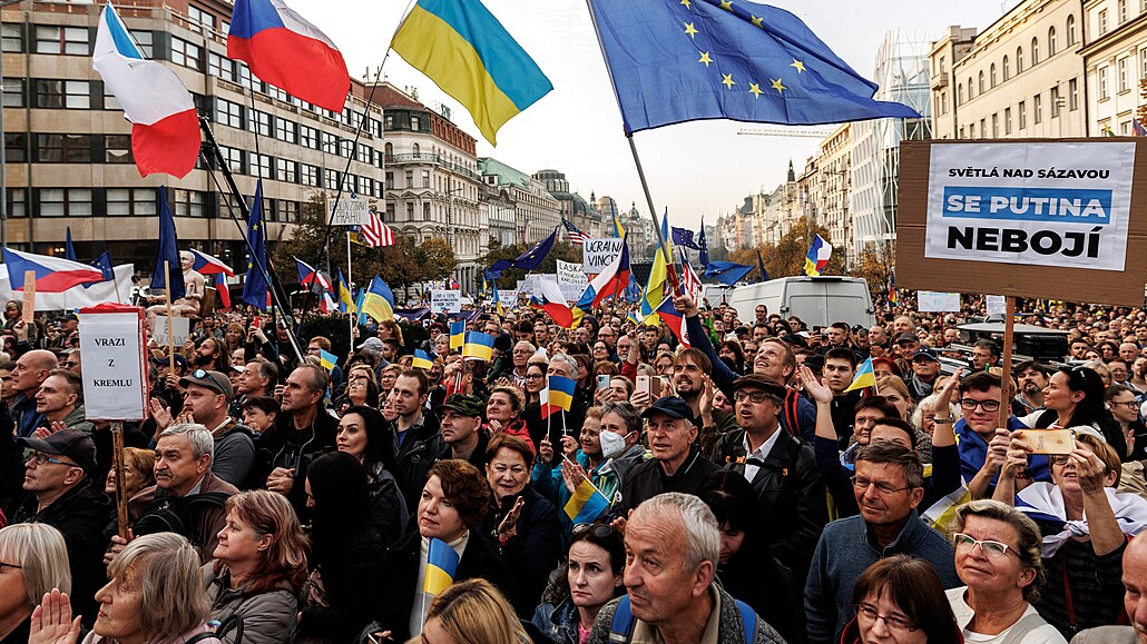
<svg viewBox="0 0 1147 644"><path fill-rule="evenodd" d="M736 402L734 430L717 443L715 461L740 472L757 492L770 549L804 580L820 531L828 523L825 482L817 470L812 446L783 431L778 416L786 387L762 374L749 374L733 384Z"/></svg>

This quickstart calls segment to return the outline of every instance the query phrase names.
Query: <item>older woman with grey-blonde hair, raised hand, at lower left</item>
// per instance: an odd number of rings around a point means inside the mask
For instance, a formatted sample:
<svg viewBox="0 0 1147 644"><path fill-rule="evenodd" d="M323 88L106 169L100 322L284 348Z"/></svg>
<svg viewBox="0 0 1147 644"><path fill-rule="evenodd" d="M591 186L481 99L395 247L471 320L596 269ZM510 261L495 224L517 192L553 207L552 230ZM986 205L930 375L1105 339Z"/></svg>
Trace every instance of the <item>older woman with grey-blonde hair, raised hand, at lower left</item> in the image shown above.
<svg viewBox="0 0 1147 644"><path fill-rule="evenodd" d="M210 614L200 556L182 536L159 533L128 543L95 594L100 614L84 644L221 644L208 630ZM29 644L75 644L79 620L65 594L53 590L32 612Z"/></svg>

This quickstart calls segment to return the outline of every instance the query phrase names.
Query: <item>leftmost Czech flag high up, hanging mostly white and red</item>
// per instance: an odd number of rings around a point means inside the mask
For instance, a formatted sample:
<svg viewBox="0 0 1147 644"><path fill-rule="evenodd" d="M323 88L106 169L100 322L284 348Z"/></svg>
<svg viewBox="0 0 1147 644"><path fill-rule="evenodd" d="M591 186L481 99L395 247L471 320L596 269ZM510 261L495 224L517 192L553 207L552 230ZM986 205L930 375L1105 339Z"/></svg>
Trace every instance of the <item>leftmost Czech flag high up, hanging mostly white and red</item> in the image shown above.
<svg viewBox="0 0 1147 644"><path fill-rule="evenodd" d="M186 176L200 156L195 103L175 72L143 57L116 8L100 15L92 68L132 123L132 154L140 174Z"/></svg>

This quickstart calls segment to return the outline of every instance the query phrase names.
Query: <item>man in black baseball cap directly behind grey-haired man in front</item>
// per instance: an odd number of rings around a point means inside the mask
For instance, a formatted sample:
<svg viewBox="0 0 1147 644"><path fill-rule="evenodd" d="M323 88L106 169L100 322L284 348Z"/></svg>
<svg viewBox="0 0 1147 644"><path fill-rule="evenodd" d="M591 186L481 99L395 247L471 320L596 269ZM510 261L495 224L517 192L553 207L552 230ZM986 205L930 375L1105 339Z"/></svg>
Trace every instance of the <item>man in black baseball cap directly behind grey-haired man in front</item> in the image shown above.
<svg viewBox="0 0 1147 644"><path fill-rule="evenodd" d="M694 447L697 426L687 402L666 395L641 416L649 421L653 458L633 468L622 481L622 508L626 511L663 492L696 494L705 477L720 469Z"/></svg>

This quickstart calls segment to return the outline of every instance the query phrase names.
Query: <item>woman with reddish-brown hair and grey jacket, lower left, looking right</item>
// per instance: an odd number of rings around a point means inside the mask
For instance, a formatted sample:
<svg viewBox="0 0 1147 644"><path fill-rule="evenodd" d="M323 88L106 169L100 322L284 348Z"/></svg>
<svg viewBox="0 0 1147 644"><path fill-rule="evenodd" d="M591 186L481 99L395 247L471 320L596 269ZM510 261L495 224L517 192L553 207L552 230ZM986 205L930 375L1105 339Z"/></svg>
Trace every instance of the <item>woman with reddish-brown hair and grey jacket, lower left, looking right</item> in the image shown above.
<svg viewBox="0 0 1147 644"><path fill-rule="evenodd" d="M203 566L211 619L242 621L244 643L291 642L306 551L306 535L286 496L256 489L228 498L214 561ZM231 644L236 635L223 639Z"/></svg>

